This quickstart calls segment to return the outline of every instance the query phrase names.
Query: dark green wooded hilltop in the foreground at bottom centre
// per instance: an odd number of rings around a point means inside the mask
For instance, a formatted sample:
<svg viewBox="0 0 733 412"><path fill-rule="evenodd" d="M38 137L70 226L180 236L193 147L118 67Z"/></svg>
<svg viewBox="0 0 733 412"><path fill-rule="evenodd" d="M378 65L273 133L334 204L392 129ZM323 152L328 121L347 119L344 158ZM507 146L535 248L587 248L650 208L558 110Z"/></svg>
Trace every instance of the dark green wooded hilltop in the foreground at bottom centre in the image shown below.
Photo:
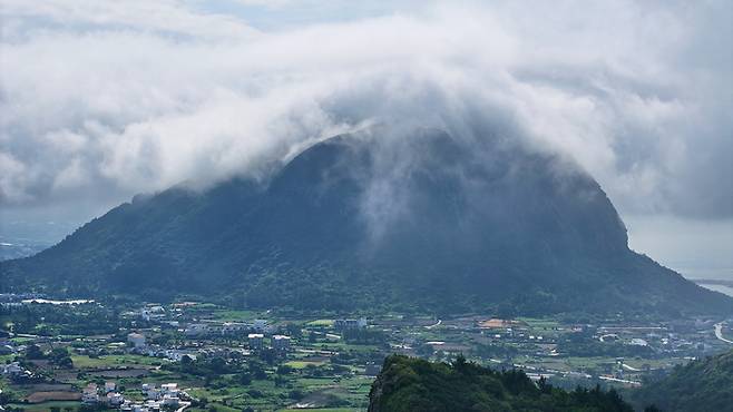
<svg viewBox="0 0 733 412"><path fill-rule="evenodd" d="M459 357L453 364L391 355L369 393L369 412L603 411L633 412L615 391L566 392L521 371L491 371Z"/></svg>

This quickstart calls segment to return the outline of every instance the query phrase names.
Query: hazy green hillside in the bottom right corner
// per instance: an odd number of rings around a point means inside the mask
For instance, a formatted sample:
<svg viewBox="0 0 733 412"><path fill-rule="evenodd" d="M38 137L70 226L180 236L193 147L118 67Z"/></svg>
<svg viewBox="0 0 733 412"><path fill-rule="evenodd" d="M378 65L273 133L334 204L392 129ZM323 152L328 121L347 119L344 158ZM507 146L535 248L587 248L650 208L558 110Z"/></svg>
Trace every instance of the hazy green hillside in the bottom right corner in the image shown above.
<svg viewBox="0 0 733 412"><path fill-rule="evenodd" d="M676 366L663 380L629 394L639 405L663 411L730 411L733 405L733 351Z"/></svg>

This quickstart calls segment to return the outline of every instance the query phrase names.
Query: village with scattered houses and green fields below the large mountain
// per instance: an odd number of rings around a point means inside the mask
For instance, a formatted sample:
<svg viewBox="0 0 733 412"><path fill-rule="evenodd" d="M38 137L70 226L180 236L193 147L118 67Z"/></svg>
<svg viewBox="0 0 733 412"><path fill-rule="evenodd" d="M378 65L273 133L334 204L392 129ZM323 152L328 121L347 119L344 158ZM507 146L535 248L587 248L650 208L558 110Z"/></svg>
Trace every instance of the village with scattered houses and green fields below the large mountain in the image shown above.
<svg viewBox="0 0 733 412"><path fill-rule="evenodd" d="M554 385L623 390L730 349L733 336L733 320L717 318L309 315L39 296L0 304L0 408L26 411L361 411L391 353L463 354Z"/></svg>

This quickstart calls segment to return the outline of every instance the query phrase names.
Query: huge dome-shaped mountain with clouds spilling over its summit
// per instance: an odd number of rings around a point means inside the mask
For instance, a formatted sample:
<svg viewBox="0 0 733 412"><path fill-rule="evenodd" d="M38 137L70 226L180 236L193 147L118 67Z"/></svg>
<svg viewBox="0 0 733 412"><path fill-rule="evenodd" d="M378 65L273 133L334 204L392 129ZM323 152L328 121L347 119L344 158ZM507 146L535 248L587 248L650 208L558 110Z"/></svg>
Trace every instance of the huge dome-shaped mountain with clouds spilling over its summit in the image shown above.
<svg viewBox="0 0 733 412"><path fill-rule="evenodd" d="M730 297L629 251L610 200L573 163L496 136L391 135L317 143L264 183L136 196L0 263L0 290L303 310L733 313Z"/></svg>

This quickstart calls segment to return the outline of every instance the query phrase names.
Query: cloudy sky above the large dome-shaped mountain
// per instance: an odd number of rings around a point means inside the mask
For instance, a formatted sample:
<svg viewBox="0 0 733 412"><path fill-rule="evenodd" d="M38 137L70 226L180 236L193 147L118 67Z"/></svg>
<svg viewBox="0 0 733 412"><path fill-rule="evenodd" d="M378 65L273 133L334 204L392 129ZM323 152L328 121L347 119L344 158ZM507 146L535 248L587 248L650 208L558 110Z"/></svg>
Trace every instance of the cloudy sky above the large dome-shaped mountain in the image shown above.
<svg viewBox="0 0 733 412"><path fill-rule="evenodd" d="M481 117L593 175L634 249L733 278L732 20L725 0L2 0L0 236Z"/></svg>

